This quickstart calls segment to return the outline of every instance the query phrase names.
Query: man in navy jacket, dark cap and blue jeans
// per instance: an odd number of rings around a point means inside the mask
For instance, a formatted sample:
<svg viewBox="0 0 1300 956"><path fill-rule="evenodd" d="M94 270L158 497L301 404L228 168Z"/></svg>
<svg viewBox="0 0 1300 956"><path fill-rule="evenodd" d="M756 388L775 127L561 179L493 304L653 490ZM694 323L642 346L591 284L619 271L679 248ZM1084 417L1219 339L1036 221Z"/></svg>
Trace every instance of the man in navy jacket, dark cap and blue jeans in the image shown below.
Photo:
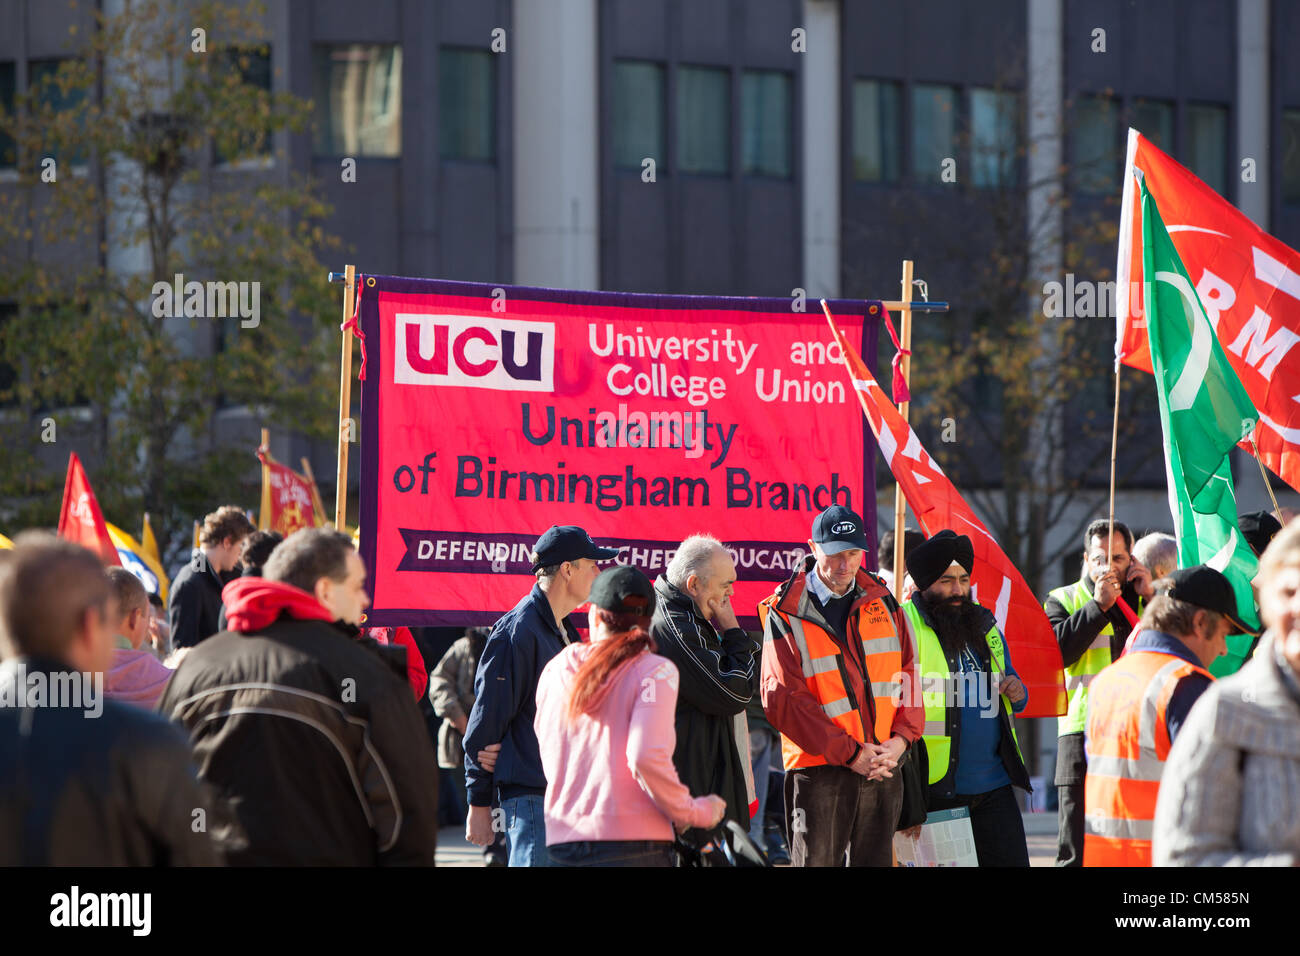
<svg viewBox="0 0 1300 956"><path fill-rule="evenodd" d="M581 528L552 525L533 549L537 584L497 622L478 661L464 740L465 839L480 847L491 843L495 791L511 866L550 865L542 818L546 775L533 731L537 679L552 657L578 640L568 615L592 593L601 572L595 562L616 554L598 548Z"/></svg>

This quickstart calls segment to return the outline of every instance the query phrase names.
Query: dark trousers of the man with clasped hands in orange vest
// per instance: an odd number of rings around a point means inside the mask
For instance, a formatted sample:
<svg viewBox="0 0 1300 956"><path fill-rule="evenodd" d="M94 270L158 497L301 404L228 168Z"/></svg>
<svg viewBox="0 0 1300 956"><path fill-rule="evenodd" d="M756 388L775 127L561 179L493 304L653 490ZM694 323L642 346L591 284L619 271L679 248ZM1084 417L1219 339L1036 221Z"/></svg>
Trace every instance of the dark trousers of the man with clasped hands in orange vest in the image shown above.
<svg viewBox="0 0 1300 956"><path fill-rule="evenodd" d="M785 771L785 834L794 866L892 866L902 775L868 780L848 767Z"/></svg>

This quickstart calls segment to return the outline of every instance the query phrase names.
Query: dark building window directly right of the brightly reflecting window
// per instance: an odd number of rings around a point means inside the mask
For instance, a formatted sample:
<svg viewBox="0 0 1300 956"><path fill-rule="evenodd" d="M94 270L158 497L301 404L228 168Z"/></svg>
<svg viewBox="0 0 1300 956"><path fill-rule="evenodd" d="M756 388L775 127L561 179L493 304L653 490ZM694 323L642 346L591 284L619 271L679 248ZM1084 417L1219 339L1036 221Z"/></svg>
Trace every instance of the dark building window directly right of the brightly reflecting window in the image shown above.
<svg viewBox="0 0 1300 956"><path fill-rule="evenodd" d="M438 79L442 159L497 159L497 56L486 49L443 47Z"/></svg>

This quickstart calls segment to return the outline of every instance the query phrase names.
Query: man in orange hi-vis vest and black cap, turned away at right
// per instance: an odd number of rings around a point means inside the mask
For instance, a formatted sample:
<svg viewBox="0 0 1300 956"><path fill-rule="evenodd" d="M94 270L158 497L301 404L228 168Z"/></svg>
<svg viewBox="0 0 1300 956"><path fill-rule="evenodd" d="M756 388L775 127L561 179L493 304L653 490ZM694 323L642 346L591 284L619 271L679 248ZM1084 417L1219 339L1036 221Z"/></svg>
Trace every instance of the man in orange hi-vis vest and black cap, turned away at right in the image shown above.
<svg viewBox="0 0 1300 956"><path fill-rule="evenodd" d="M1205 564L1154 583L1132 649L1088 693L1084 866L1150 866L1169 748L1242 623L1227 578Z"/></svg>

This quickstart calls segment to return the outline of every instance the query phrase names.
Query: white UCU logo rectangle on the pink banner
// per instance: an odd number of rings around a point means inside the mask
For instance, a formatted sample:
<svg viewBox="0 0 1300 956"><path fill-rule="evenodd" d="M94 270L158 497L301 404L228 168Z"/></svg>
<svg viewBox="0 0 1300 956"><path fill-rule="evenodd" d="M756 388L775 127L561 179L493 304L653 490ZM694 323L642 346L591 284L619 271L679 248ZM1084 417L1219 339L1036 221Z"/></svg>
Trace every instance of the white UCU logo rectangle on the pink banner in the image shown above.
<svg viewBox="0 0 1300 956"><path fill-rule="evenodd" d="M555 326L477 315L396 315L398 385L551 392Z"/></svg>

